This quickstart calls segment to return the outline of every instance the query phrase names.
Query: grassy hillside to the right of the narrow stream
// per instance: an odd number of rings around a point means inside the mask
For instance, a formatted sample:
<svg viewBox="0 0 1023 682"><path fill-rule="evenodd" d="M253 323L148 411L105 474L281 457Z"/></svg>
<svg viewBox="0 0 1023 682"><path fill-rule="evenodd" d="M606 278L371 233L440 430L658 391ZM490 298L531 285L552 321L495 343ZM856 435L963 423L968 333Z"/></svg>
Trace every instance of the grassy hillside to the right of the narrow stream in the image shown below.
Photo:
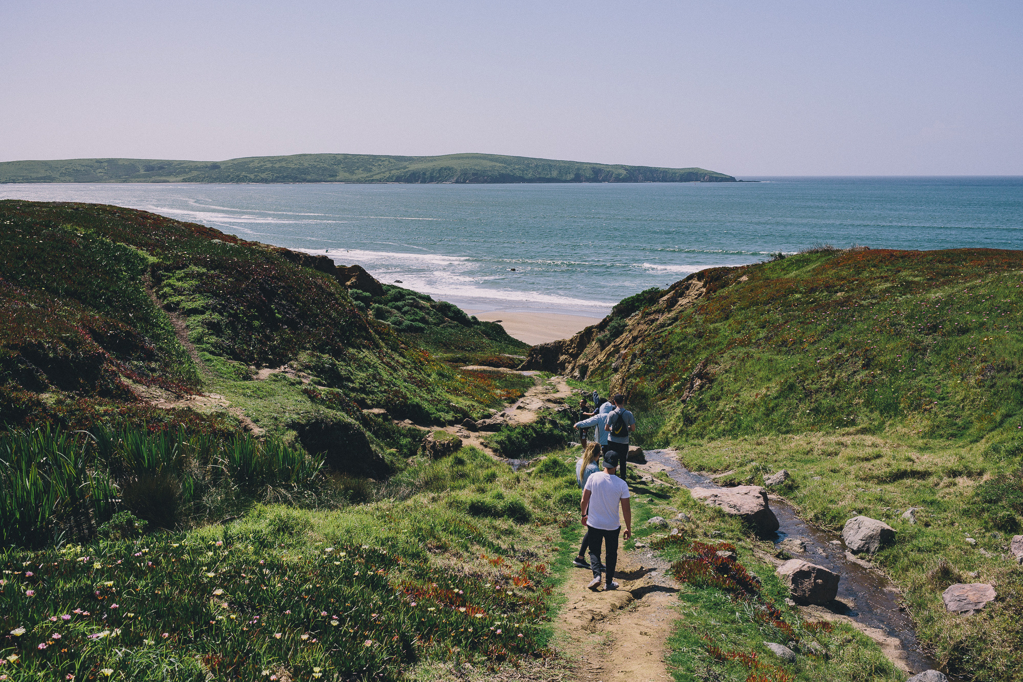
<svg viewBox="0 0 1023 682"><path fill-rule="evenodd" d="M814 249L622 301L527 367L630 396L644 445L763 484L815 524L897 530L873 561L949 672L1018 680L1023 569L1023 252ZM903 512L915 509L916 521ZM958 582L994 585L945 611Z"/></svg>

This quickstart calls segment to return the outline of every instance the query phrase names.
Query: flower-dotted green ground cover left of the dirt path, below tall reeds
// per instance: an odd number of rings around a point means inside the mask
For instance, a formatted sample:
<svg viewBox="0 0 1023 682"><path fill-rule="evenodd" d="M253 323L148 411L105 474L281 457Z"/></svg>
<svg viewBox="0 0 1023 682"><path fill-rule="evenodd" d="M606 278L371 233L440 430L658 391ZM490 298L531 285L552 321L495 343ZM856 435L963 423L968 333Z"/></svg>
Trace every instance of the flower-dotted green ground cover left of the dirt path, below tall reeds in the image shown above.
<svg viewBox="0 0 1023 682"><path fill-rule="evenodd" d="M401 500L9 550L0 658L15 658L0 674L393 679L424 659L486 670L545 655L550 545L571 514L558 493L574 477L466 450L416 470L420 493Z"/></svg>

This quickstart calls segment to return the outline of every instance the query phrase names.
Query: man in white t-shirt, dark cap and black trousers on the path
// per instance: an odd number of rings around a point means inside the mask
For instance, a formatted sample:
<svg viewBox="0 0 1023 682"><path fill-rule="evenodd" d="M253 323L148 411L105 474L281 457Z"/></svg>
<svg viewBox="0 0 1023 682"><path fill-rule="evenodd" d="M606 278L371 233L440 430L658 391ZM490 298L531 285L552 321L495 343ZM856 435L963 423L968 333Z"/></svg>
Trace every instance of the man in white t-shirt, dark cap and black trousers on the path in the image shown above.
<svg viewBox="0 0 1023 682"><path fill-rule="evenodd" d="M621 503L622 516L625 517L625 540L632 535L632 510L629 507L629 486L615 475L618 467L616 453L604 456L604 471L590 474L586 486L582 491L582 524L589 532L589 567L593 571L593 580L588 587L594 592L601 587L601 545L607 543L607 558L609 590L618 589L615 577L615 564L618 563L618 534L622 529L618 517L618 505Z"/></svg>

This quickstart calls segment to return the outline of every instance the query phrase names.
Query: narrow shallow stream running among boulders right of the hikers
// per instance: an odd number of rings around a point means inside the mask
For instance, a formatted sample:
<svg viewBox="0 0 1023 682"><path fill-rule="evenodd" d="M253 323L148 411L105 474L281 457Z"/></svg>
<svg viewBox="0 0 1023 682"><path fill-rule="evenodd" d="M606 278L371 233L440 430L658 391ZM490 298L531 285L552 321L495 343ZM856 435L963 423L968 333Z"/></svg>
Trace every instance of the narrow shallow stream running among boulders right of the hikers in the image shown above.
<svg viewBox="0 0 1023 682"><path fill-rule="evenodd" d="M710 478L685 469L672 451L653 450L644 455L648 462L664 466L666 473L685 487L721 487ZM887 578L846 558L839 535L810 526L799 518L791 505L771 498L770 507L781 524L775 547L787 538L799 538L805 543L806 552L792 553L794 558L824 566L842 577L838 599L824 608L898 639L903 659L913 671L910 674L938 668L937 663L921 649L913 622L899 607L901 594Z"/></svg>

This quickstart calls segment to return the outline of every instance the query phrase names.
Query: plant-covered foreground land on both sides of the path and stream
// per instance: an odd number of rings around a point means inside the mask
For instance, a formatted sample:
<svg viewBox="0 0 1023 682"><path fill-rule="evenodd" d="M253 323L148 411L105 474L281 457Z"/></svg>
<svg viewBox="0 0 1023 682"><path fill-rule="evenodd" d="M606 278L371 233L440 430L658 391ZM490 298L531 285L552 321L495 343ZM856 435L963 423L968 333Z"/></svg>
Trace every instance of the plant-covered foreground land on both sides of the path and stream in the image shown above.
<svg viewBox="0 0 1023 682"><path fill-rule="evenodd" d="M0 252L8 679L571 679L566 382L623 390L635 444L719 483L787 470L771 493L818 528L890 524L859 558L935 665L1020 679L1023 252L711 268L532 348L357 266L143 211L0 202ZM527 391L535 419L502 422ZM629 485L624 549L677 590L674 679L905 679L788 603L791 555L754 528L663 472ZM972 583L996 599L949 612Z"/></svg>

